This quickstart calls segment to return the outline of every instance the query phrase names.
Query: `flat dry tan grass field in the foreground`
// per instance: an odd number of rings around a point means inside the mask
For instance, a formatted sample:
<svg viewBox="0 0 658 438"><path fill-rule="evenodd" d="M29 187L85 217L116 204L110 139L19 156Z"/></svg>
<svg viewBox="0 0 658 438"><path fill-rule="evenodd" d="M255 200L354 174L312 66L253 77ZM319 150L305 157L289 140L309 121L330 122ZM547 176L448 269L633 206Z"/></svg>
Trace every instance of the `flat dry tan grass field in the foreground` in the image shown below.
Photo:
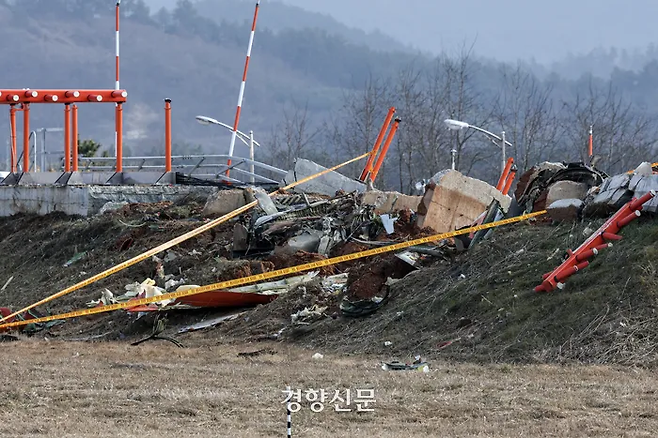
<svg viewBox="0 0 658 438"><path fill-rule="evenodd" d="M273 351L238 356L261 349ZM312 413L305 405L293 415L298 437L649 437L658 430L658 378L650 370L430 358L429 373L392 372L380 368L386 358L313 360L314 353L262 343L4 343L0 435L285 436L287 385L376 391L374 412L325 405Z"/></svg>

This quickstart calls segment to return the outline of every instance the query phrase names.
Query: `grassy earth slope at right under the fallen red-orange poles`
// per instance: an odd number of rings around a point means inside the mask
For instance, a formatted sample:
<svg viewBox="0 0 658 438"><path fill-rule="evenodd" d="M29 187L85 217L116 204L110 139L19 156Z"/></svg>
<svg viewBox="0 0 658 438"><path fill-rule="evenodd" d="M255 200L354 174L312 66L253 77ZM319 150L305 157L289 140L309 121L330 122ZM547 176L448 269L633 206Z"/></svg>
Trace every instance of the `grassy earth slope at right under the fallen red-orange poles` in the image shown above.
<svg viewBox="0 0 658 438"><path fill-rule="evenodd" d="M464 361L658 364L655 220L624 228L623 240L570 278L565 290L532 292L566 249L585 239L585 229L600 224L500 228L455 262L437 262L391 285L388 302L373 315L324 318L296 342L327 352L417 352ZM368 278L366 270L356 270L352 288L368 283L359 281ZM291 299L254 317L281 323L295 307L288 307Z"/></svg>

